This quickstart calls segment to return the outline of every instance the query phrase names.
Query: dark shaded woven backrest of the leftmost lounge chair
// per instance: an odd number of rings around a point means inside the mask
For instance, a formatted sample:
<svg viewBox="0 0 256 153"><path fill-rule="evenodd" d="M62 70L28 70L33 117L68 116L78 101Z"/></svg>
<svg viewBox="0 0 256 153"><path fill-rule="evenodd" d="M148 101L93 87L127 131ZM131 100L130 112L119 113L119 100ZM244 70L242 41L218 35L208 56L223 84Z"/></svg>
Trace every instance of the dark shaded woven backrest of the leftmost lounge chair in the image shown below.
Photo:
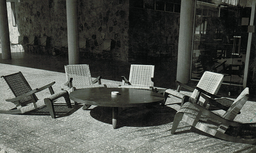
<svg viewBox="0 0 256 153"><path fill-rule="evenodd" d="M2 82L9 95L13 94L15 97L18 97L32 90L21 72L1 76L1 78L3 79ZM23 107L29 103L33 103L33 100L31 99L31 96L27 96L19 100L19 103L20 106Z"/></svg>

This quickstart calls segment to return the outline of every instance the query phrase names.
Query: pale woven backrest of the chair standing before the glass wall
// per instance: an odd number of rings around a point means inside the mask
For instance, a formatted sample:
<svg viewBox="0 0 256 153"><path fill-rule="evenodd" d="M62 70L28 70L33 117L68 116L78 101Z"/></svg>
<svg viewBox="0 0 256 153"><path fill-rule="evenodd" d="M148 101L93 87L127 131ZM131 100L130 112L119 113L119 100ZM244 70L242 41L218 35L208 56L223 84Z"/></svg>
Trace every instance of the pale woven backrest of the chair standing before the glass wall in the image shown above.
<svg viewBox="0 0 256 153"><path fill-rule="evenodd" d="M217 95L223 79L223 74L205 71L196 87L199 87L200 89L203 89L204 91L207 91L213 95ZM197 89L193 91L191 95L192 99L190 99L190 101L193 102L195 100L197 92ZM204 103L205 99L200 97L199 101Z"/></svg>

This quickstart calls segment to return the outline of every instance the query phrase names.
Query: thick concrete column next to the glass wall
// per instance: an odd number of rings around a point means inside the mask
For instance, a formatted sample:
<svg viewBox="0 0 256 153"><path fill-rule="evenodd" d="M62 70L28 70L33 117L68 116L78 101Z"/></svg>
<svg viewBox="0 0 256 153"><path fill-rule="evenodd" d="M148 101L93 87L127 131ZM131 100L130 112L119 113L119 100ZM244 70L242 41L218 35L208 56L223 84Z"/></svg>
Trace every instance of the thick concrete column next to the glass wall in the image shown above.
<svg viewBox="0 0 256 153"><path fill-rule="evenodd" d="M181 0L177 81L188 83L191 71L196 0Z"/></svg>

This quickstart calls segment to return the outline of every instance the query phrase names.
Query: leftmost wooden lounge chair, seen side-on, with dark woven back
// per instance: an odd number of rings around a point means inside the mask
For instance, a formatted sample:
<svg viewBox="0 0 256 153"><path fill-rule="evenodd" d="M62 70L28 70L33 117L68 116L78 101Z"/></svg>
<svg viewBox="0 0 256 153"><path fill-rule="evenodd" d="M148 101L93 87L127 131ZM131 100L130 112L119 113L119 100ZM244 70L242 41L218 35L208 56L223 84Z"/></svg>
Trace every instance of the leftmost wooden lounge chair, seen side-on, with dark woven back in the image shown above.
<svg viewBox="0 0 256 153"><path fill-rule="evenodd" d="M11 85L11 83L9 83L10 77L15 77L15 76L19 76L22 80L22 84L26 85L26 88L28 88L30 91L29 92L25 92L21 95L17 95L14 92L14 89ZM7 78L8 77L8 78ZM4 80L3 83L5 84L5 87L8 89L9 91L12 92L14 94L14 98L11 99L6 99L5 101L7 102L11 102L14 103L16 105L15 108L12 108L11 110L0 110L1 114L19 114L19 113L25 113L31 110L34 110L36 108L42 107L42 106L47 106L48 110L50 112L50 115L52 118L56 118L56 114L54 111L54 107L53 107L53 101L58 99L59 97L64 97L65 101L67 103L68 108L72 108L71 106L71 102L69 99L69 94L67 91L60 91L57 93L54 93L52 85L55 84L55 82L52 82L50 84L47 84L41 88L36 88L34 90L31 89L29 83L27 82L27 80L25 79L25 77L23 76L23 74L21 72L17 72L17 73L12 73L12 74L8 74L5 76L1 76L1 78ZM17 85L15 85L15 88ZM48 96L43 100L39 100L37 98L37 96L35 95L35 93L38 93L40 91L43 91L44 89L49 89L51 96ZM22 91L23 92L23 91ZM20 100L26 98L26 97L30 97L31 98L31 102L28 103L26 106L22 106L20 103Z"/></svg>

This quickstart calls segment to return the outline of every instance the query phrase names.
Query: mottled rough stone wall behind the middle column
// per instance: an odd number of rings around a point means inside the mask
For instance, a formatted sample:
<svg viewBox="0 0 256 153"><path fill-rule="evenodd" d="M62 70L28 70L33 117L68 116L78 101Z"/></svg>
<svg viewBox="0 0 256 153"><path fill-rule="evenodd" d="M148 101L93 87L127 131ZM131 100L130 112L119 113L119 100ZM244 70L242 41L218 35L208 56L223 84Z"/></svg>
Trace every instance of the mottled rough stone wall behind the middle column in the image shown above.
<svg viewBox="0 0 256 153"><path fill-rule="evenodd" d="M88 39L88 49L101 50L102 41L111 39L114 58L126 61L129 0L78 0L78 3L79 37ZM52 46L67 38L64 0L16 2L15 8L20 35L39 38L46 35L51 38Z"/></svg>

